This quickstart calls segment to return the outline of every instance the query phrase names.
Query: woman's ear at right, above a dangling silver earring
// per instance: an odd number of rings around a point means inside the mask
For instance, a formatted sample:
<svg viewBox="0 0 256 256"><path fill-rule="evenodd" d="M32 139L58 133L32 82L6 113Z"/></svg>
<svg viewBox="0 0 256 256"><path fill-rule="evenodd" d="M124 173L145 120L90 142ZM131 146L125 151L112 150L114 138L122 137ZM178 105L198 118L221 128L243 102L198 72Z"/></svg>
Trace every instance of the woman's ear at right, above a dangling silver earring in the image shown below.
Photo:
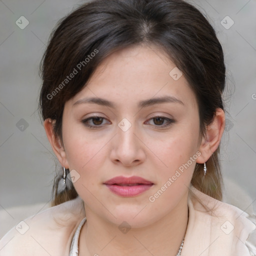
<svg viewBox="0 0 256 256"><path fill-rule="evenodd" d="M206 128L206 137L202 138L199 146L201 155L197 157L196 162L206 162L212 153L217 149L225 128L225 113L221 108L217 108L215 117L211 124Z"/></svg>

